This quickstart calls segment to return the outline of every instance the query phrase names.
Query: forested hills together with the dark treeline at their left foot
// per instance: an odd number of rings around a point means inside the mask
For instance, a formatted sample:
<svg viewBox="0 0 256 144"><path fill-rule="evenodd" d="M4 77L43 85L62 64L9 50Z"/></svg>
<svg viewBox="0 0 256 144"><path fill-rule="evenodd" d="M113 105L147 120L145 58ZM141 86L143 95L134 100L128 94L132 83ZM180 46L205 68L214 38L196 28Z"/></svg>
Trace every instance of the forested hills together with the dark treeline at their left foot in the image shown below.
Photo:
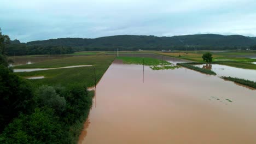
<svg viewBox="0 0 256 144"><path fill-rule="evenodd" d="M12 55L57 55L74 51L105 50L256 50L256 38L242 35L195 34L173 37L153 35L115 35L95 39L60 38L20 43L10 41L7 54Z"/></svg>

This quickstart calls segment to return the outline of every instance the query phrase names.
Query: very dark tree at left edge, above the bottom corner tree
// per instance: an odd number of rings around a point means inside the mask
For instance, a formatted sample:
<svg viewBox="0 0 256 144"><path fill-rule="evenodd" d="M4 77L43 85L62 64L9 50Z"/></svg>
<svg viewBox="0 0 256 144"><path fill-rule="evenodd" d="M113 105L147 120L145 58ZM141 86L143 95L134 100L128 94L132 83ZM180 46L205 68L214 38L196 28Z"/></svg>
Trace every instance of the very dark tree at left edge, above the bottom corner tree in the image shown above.
<svg viewBox="0 0 256 144"><path fill-rule="evenodd" d="M27 81L0 65L0 131L19 113L33 110L32 97Z"/></svg>

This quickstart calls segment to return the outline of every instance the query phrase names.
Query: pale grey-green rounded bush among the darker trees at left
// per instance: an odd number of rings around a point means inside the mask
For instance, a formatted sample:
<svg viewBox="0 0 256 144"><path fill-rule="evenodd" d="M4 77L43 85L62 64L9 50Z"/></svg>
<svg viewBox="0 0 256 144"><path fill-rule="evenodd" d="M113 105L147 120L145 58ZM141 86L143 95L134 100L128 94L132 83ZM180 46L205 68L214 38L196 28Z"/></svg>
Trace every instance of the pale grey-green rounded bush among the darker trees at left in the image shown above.
<svg viewBox="0 0 256 144"><path fill-rule="evenodd" d="M60 115L66 109L66 100L56 93L54 87L41 86L38 88L34 100L38 106L49 106Z"/></svg>

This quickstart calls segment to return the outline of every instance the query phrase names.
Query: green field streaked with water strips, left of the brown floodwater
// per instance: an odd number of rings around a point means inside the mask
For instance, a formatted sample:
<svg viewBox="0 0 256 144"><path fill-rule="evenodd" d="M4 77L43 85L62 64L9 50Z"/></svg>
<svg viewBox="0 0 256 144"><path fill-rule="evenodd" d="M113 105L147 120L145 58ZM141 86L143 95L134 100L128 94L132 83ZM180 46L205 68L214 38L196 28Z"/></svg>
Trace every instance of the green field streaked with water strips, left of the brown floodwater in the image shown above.
<svg viewBox="0 0 256 144"><path fill-rule="evenodd" d="M44 79L31 80L36 86L40 85L69 85L71 83L82 83L85 86L94 86L94 67L96 69L97 81L101 79L104 72L113 62L114 56L79 56L62 59L53 59L40 63L20 65L14 68L58 68L70 65L93 65L92 67L78 67L66 69L51 69L31 72L17 73L22 77L44 76Z"/></svg>

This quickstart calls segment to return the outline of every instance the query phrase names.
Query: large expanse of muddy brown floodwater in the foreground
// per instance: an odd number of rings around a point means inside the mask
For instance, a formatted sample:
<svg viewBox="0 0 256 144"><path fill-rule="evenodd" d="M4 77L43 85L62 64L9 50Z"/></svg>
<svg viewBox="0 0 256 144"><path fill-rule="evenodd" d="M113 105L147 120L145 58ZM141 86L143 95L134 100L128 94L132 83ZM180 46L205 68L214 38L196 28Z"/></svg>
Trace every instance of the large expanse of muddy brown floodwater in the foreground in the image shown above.
<svg viewBox="0 0 256 144"><path fill-rule="evenodd" d="M78 143L256 143L256 91L179 68L114 61Z"/></svg>

